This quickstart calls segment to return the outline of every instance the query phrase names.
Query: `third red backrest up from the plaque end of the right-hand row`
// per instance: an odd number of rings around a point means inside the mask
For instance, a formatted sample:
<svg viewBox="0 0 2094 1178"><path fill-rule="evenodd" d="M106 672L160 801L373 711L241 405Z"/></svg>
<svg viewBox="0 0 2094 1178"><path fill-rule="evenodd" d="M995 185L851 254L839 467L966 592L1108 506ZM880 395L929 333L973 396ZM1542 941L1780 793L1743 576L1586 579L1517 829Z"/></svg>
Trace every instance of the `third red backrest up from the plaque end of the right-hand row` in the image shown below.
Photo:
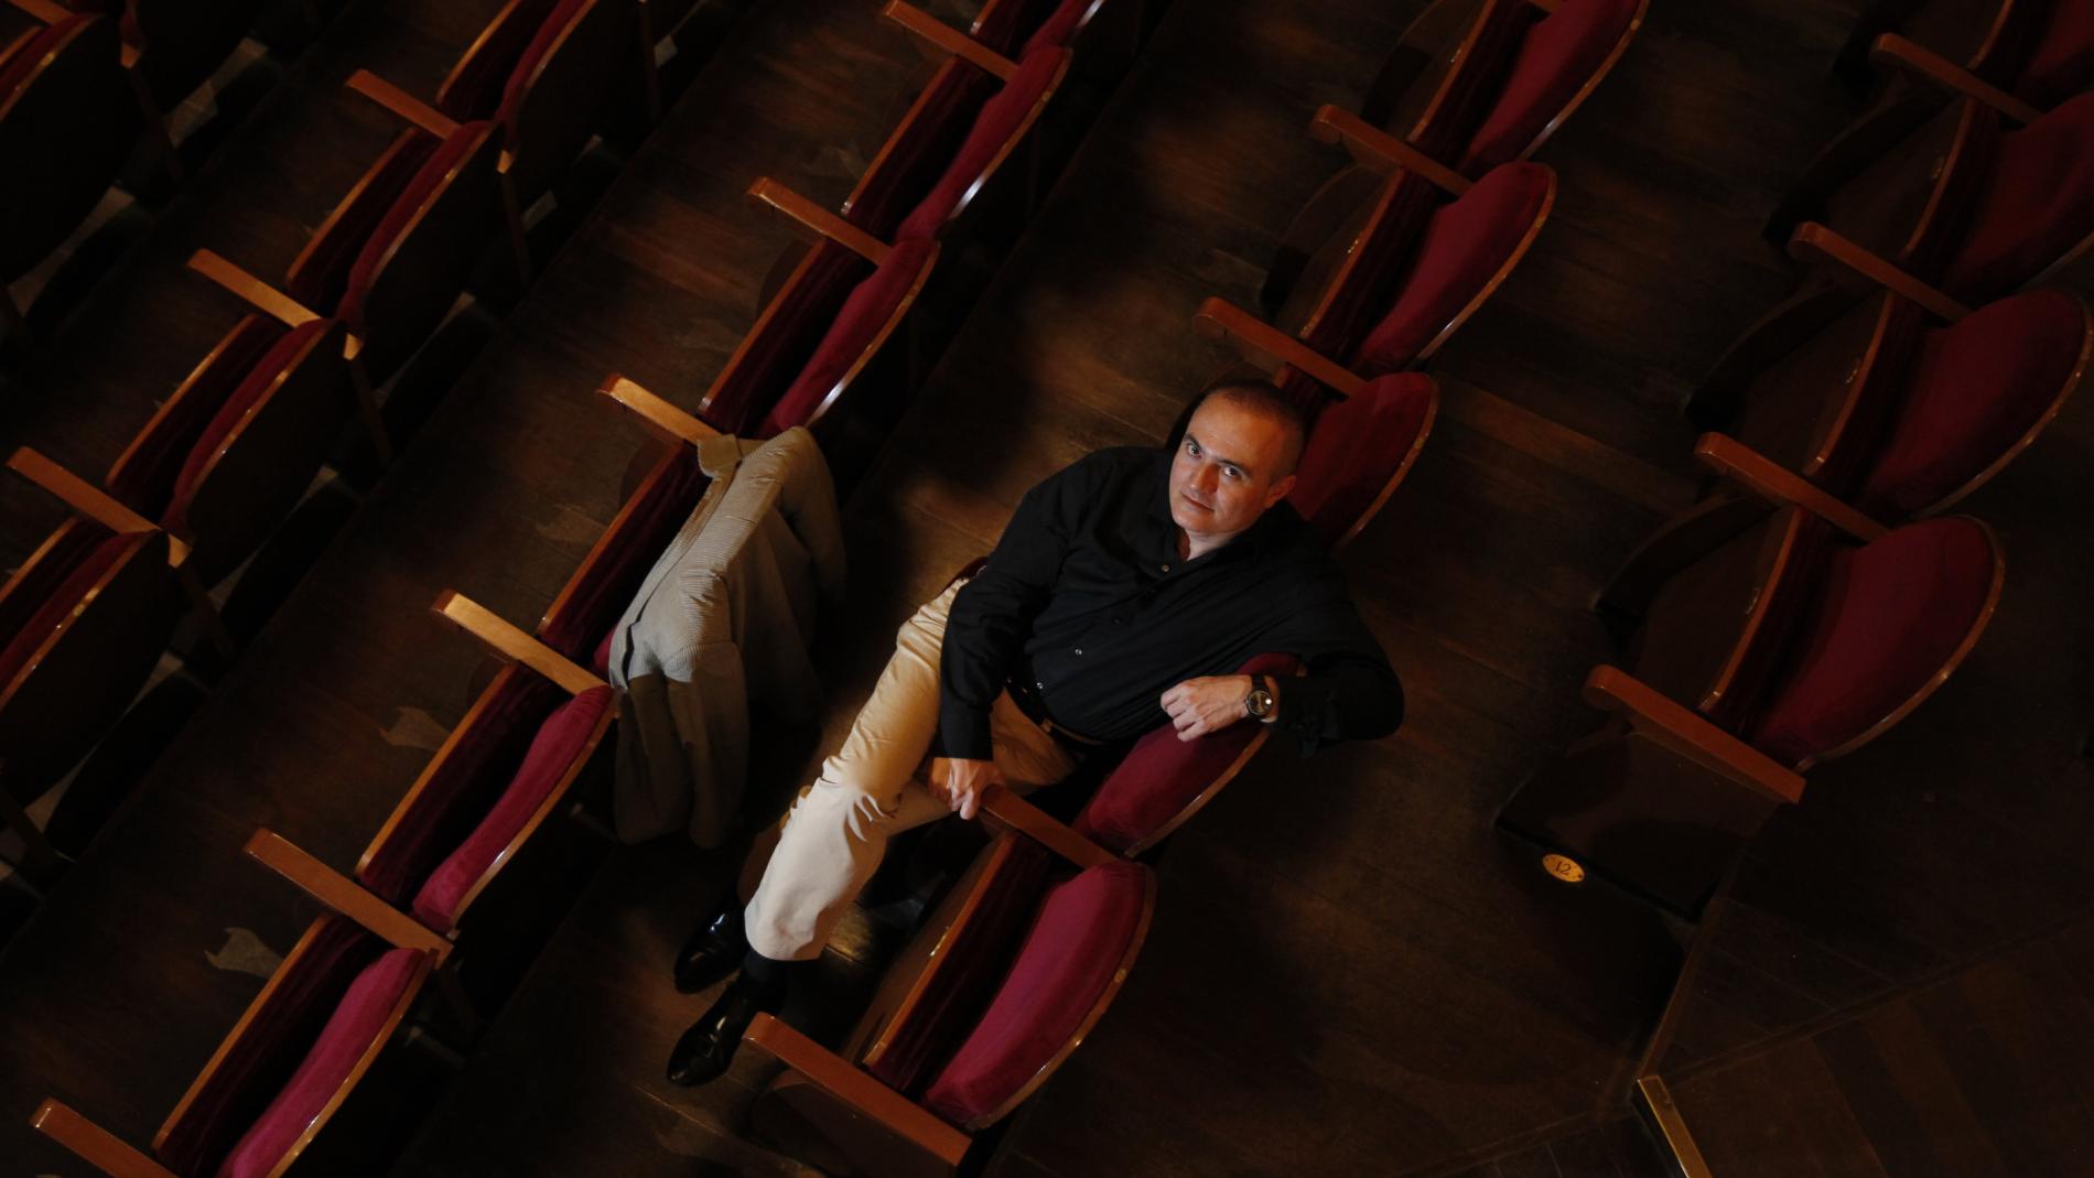
<svg viewBox="0 0 2094 1178"><path fill-rule="evenodd" d="M1941 287L1987 301L2094 234L2094 94L2000 136Z"/></svg>

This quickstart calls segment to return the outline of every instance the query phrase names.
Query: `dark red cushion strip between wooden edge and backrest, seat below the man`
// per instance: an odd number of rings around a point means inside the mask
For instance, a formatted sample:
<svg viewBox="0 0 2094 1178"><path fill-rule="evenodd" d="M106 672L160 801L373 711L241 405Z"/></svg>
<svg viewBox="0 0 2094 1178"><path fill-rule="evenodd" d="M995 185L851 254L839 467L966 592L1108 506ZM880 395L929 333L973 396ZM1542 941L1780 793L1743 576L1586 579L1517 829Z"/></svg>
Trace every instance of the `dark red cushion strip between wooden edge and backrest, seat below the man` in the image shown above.
<svg viewBox="0 0 2094 1178"><path fill-rule="evenodd" d="M1051 864L1053 856L1032 839L1009 839L1001 870L980 881L974 919L928 965L932 973L917 1004L886 1027L888 1048L865 1065L873 1078L915 1094L953 1057L1003 981L1018 937L1039 910Z"/></svg>

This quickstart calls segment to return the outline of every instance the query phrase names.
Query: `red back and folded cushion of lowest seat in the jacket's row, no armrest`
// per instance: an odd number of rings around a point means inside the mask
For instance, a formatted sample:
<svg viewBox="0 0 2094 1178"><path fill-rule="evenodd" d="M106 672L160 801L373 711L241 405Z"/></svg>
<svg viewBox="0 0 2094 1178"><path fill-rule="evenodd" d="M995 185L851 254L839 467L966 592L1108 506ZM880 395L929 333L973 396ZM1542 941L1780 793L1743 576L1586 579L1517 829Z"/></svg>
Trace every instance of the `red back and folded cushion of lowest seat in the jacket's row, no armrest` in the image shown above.
<svg viewBox="0 0 2094 1178"><path fill-rule="evenodd" d="M419 960L406 962L400 952ZM329 1109L325 1101L312 1107L314 1088L333 1078L337 1082L327 1086L333 1094L348 1071L360 1071L364 1048L381 1044L398 1025L406 998L427 977L427 954L387 950L341 916L314 921L153 1136L155 1157L176 1174L201 1178L220 1174L239 1149L241 1174L268 1174L281 1153L276 1159L258 1155L297 1149L318 1132ZM356 1000L348 1002L352 990L358 990ZM371 1009L379 1004L383 1017L373 1019ZM339 1023L337 1013L343 1015ZM341 1067L350 1052L354 1057ZM310 1113L297 1119L306 1109ZM264 1165L255 1168L258 1161Z"/></svg>

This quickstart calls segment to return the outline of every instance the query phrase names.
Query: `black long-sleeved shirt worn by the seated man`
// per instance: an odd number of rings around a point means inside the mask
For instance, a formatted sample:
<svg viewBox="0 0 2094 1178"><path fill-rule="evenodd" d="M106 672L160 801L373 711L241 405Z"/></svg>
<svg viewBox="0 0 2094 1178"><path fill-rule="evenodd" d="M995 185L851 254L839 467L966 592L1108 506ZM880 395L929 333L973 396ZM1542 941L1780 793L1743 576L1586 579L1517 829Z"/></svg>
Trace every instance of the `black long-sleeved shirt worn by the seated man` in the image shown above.
<svg viewBox="0 0 2094 1178"><path fill-rule="evenodd" d="M1055 724L1133 741L1166 724L1160 697L1288 653L1279 718L1307 755L1386 737L1403 686L1344 592L1344 575L1286 502L1194 561L1179 557L1168 450L1099 450L1018 504L988 565L953 598L940 659L938 743L988 760L988 707L1037 684Z"/></svg>

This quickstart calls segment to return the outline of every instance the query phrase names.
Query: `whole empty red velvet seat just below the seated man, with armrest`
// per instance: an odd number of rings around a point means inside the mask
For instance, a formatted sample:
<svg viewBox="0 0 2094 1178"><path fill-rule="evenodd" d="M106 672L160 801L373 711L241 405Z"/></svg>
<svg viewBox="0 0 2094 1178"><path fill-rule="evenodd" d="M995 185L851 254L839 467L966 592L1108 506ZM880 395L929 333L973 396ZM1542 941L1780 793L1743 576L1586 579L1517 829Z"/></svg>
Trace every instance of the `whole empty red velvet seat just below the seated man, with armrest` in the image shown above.
<svg viewBox="0 0 2094 1178"><path fill-rule="evenodd" d="M1141 864L1074 870L1001 835L882 979L842 1055L756 1019L748 1040L787 1067L758 1101L758 1128L838 1170L957 1168L1104 1015L1154 904Z"/></svg>

